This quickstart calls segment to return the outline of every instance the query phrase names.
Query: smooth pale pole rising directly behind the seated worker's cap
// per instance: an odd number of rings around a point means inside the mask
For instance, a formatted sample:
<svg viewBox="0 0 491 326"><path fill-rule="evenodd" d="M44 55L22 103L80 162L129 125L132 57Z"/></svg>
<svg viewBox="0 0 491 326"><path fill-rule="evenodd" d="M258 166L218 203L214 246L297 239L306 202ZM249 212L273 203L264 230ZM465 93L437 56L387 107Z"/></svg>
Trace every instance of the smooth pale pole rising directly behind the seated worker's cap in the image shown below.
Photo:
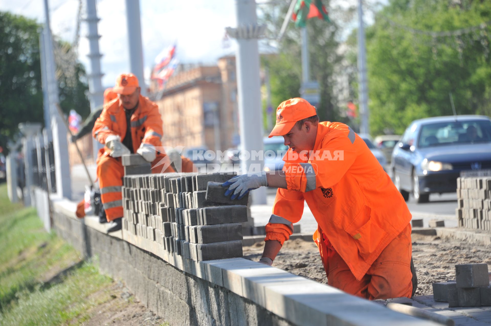
<svg viewBox="0 0 491 326"><path fill-rule="evenodd" d="M130 70L138 78L141 95L145 96L147 89L143 75L143 48L141 45L140 1L126 0L126 19L128 29L128 48L130 50Z"/></svg>

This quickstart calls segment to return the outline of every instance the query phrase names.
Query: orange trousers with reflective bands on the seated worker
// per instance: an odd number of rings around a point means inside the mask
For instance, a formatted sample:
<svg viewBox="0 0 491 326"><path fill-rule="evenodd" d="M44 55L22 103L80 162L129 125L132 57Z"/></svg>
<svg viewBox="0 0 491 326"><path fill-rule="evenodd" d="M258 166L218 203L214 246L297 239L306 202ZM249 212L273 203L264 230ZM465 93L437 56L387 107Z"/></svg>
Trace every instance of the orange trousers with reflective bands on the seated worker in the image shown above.
<svg viewBox="0 0 491 326"><path fill-rule="evenodd" d="M165 158L166 156L164 156L164 160ZM163 157L157 156L152 162L152 173L174 172L170 165L165 171L162 171L161 160ZM114 158L109 155L99 157L97 160L97 177L99 178L102 206L106 211L108 221L123 217L123 195L121 191L123 176L124 169L120 157Z"/></svg>

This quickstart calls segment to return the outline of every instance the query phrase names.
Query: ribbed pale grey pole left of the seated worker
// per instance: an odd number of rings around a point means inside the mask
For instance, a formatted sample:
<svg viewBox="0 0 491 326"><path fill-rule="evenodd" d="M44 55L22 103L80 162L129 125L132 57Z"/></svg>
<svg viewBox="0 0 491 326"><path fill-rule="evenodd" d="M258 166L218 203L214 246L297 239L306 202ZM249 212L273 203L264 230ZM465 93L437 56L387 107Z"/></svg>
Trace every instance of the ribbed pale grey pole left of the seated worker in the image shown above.
<svg viewBox="0 0 491 326"><path fill-rule="evenodd" d="M104 103L104 89L102 87L102 76L101 72L101 57L102 54L99 52L99 39L101 36L97 30L97 23L100 19L97 17L97 6L95 0L86 0L87 3L87 17L85 22L87 22L88 34L87 39L89 41L89 54L87 55L90 59L90 74L87 75L89 82L89 100L90 100L90 111L97 111ZM92 139L92 155L94 158L94 163L97 159L97 153L103 145L97 140Z"/></svg>

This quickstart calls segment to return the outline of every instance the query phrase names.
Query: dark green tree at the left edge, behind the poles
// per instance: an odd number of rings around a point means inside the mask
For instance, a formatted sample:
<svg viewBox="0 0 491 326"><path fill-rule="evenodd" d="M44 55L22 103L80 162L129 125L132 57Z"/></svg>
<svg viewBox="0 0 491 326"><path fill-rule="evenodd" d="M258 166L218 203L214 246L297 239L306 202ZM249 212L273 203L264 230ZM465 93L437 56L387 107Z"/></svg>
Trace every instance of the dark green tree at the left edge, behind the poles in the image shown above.
<svg viewBox="0 0 491 326"><path fill-rule="evenodd" d="M0 12L0 146L4 149L18 135L19 123L44 124L38 29L34 20ZM67 83L63 72L58 76L60 106L64 113L74 108L87 116L85 70L76 65L74 85Z"/></svg>

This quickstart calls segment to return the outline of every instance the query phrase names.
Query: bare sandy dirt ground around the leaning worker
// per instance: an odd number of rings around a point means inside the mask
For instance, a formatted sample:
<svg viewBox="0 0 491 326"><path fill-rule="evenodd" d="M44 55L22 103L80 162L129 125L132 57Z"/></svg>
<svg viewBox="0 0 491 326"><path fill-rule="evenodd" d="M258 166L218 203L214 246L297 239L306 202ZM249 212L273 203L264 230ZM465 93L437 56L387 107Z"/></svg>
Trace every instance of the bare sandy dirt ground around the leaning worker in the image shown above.
<svg viewBox="0 0 491 326"><path fill-rule="evenodd" d="M264 243L244 247L244 257L258 261L263 248ZM491 265L491 255L486 246L436 236L413 234L412 256L418 276L417 296L433 295L432 283L455 279L457 264ZM313 242L301 239L285 242L273 266L327 284L319 251Z"/></svg>

